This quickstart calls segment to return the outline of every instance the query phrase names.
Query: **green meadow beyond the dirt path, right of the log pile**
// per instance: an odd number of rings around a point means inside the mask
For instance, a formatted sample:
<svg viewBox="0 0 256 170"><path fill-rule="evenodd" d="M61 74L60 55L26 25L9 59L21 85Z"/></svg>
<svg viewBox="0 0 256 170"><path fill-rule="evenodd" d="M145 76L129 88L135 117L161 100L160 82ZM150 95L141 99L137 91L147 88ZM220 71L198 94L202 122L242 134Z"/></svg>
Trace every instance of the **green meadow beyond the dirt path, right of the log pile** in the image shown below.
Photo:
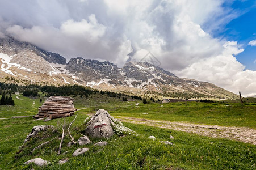
<svg viewBox="0 0 256 170"><path fill-rule="evenodd" d="M245 99L246 100L246 99ZM247 100L246 100L247 101ZM139 106L136 107L136 102ZM236 102L236 101L235 101ZM198 124L240 126L256 128L256 100L250 99L241 106L240 103L151 103L142 104L141 100L121 102L106 96L95 95L93 98L77 97L76 108L86 108L78 112L95 112L106 109L112 116L148 118L167 121L188 121ZM149 114L142 114L149 113Z"/></svg>

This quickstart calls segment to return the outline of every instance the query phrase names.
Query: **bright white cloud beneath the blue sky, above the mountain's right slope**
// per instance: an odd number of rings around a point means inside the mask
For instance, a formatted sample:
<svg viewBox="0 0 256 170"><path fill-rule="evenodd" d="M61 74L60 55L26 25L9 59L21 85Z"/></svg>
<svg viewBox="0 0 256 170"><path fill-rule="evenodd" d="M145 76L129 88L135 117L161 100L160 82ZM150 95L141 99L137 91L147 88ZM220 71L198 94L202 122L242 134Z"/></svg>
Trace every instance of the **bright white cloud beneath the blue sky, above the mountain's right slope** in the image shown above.
<svg viewBox="0 0 256 170"><path fill-rule="evenodd" d="M256 71L244 71L245 66L232 56L241 50L235 48L236 42L228 42L222 54L195 62L177 74L214 83L236 94L238 91L243 95L255 92Z"/></svg>

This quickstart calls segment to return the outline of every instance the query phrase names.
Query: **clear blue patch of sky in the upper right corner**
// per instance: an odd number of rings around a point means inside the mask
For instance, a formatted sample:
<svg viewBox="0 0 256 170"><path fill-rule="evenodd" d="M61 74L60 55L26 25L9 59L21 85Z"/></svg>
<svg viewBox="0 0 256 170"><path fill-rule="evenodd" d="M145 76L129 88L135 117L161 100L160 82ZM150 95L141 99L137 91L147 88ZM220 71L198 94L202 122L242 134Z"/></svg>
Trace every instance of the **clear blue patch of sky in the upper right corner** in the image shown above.
<svg viewBox="0 0 256 170"><path fill-rule="evenodd" d="M224 29L216 31L215 36L229 41L237 41L244 49L244 52L236 56L237 61L245 65L245 69L255 71L256 46L248 45L248 43L256 39L256 2L253 0L234 1L231 4L224 3L223 6L232 8L240 16L226 24Z"/></svg>

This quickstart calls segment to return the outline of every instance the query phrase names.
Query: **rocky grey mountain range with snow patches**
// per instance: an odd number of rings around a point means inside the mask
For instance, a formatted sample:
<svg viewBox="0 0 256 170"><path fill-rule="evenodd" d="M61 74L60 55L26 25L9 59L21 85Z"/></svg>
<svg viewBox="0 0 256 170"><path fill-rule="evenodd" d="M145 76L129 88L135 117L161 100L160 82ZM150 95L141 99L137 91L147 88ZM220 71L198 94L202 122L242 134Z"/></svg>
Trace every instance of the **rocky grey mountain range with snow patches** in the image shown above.
<svg viewBox="0 0 256 170"><path fill-rule="evenodd" d="M12 37L0 39L0 80L15 83L80 84L99 90L152 94L164 97L237 98L236 94L207 82L178 76L146 62L114 63L72 58L47 52Z"/></svg>

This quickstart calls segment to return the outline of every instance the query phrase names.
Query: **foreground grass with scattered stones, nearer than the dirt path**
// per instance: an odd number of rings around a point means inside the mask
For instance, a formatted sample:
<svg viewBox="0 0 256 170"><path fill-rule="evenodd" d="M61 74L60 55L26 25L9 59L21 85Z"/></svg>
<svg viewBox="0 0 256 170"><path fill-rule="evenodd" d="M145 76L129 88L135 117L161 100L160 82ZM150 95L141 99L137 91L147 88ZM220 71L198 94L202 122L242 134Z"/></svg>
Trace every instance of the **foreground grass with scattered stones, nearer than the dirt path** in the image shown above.
<svg viewBox="0 0 256 170"><path fill-rule="evenodd" d="M75 128L82 127L85 114L80 114L74 123ZM73 117L66 118L66 121L72 121ZM64 119L62 118L61 122ZM29 159L41 157L52 162L47 169L165 169L167 167L182 169L254 169L255 168L255 145L241 142L230 141L226 139L214 139L201 137L181 131L153 128L145 125L125 124L135 130L139 136L126 135L123 137L114 136L107 139L109 145L96 147L87 145L90 150L84 155L72 157L72 153L79 146L66 147L70 141L65 138L62 148L62 154L57 156L56 152L60 140L54 140L49 145L37 150L32 155L27 151L18 154L15 159L15 153L18 147L22 145L24 138L35 125L55 125L57 127L59 120L50 122L32 121L31 118L20 118L7 120L1 124L3 127L1 134L1 154L0 168L2 169L40 169L35 165L24 165ZM79 129L82 130L82 129ZM79 138L79 130L74 138ZM11 134L11 135L10 135ZM55 137L53 133L48 138L42 140L45 135L40 135L35 141L28 143L29 148L34 148L44 141ZM154 135L157 140L148 139ZM165 145L159 140L169 140L173 135L174 145ZM93 143L99 140L93 139ZM80 146L81 147L81 146ZM63 154L69 151L67 154ZM69 158L69 163L58 165L60 159Z"/></svg>

